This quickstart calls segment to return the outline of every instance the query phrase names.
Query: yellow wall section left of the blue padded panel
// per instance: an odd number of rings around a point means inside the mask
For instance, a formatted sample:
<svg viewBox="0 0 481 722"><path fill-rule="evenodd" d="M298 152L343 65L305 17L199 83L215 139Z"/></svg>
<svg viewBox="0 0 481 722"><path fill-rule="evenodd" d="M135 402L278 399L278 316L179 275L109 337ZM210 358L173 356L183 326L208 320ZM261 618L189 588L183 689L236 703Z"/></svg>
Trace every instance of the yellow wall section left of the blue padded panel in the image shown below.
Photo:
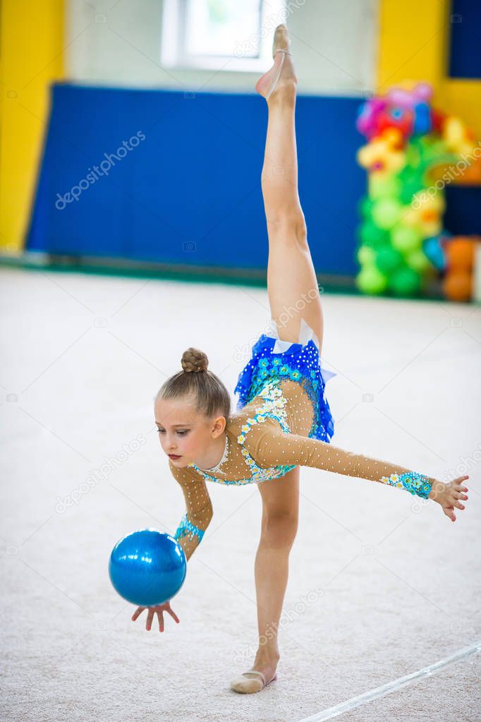
<svg viewBox="0 0 481 722"><path fill-rule="evenodd" d="M0 17L0 249L20 251L50 105L63 77L63 0L3 0Z"/></svg>

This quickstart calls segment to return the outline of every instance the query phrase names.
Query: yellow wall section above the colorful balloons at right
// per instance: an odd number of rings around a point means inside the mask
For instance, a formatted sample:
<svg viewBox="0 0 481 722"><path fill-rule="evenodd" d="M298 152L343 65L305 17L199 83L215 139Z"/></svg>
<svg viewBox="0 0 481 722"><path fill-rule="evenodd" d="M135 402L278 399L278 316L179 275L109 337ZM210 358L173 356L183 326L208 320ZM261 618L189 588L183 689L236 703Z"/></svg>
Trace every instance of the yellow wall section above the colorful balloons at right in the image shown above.
<svg viewBox="0 0 481 722"><path fill-rule="evenodd" d="M433 105L459 116L481 138L481 81L447 77L451 8L441 0L380 0L377 85L427 80Z"/></svg>

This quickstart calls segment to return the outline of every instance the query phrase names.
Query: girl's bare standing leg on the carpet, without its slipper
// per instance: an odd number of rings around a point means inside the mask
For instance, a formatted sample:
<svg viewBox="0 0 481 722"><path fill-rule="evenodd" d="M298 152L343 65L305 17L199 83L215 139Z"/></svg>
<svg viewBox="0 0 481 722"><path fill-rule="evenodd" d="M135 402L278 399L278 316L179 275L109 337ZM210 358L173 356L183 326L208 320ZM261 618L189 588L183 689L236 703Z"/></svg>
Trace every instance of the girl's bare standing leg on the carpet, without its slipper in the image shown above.
<svg viewBox="0 0 481 722"><path fill-rule="evenodd" d="M262 525L255 557L259 647L252 669L269 682L279 659L278 624L288 578L289 552L299 520L299 471L258 485L262 496Z"/></svg>

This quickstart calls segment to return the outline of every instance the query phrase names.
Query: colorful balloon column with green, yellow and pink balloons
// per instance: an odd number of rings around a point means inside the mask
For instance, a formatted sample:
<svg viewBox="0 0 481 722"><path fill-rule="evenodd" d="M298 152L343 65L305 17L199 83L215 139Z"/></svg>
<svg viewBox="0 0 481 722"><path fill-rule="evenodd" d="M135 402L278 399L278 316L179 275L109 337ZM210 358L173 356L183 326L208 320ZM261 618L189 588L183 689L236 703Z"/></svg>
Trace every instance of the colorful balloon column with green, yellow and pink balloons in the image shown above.
<svg viewBox="0 0 481 722"><path fill-rule="evenodd" d="M481 147L460 118L432 108L432 97L428 83L410 83L359 109L356 127L369 141L357 155L368 173L356 248L362 292L419 295L433 274L446 271L446 165L480 165ZM444 284L446 296L459 299L467 287L457 277Z"/></svg>

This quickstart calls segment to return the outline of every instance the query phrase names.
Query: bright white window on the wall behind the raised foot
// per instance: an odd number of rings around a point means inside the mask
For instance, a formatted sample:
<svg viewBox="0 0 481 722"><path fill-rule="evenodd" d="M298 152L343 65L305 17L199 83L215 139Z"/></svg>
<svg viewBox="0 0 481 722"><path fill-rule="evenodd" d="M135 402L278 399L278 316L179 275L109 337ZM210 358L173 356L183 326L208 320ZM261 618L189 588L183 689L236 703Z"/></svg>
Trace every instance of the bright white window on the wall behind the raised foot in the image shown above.
<svg viewBox="0 0 481 722"><path fill-rule="evenodd" d="M162 65L265 70L274 28L286 19L286 0L164 0Z"/></svg>

